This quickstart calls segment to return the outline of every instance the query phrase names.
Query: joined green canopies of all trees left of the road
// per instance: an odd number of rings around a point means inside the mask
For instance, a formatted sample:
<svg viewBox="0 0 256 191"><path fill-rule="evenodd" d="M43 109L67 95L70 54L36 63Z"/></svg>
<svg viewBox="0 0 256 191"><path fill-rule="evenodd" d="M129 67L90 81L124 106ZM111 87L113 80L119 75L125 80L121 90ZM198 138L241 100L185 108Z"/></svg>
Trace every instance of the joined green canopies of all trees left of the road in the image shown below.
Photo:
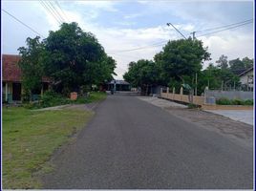
<svg viewBox="0 0 256 191"><path fill-rule="evenodd" d="M40 77L42 74L48 76L53 89L59 93L67 94L79 91L82 86L99 85L115 74L116 61L105 53L93 33L83 32L75 22L63 23L59 30L49 32L42 42L38 36L28 38L27 45L28 48L19 49L24 75L30 78L29 74L35 71L34 77L37 73ZM37 82L37 79L32 79L31 83ZM26 81L25 84L29 89L35 86Z"/></svg>

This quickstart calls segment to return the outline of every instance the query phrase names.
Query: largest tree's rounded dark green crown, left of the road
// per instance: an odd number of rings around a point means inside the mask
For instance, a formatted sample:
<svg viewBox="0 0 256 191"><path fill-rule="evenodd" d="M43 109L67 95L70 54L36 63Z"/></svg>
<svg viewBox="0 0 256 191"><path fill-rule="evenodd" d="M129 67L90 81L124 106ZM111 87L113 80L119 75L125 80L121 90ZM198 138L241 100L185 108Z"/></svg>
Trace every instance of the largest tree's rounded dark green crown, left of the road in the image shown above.
<svg viewBox="0 0 256 191"><path fill-rule="evenodd" d="M76 23L63 23L58 31L50 32L45 48L45 73L58 92L78 91L83 85L108 80L116 68L96 36L83 32Z"/></svg>

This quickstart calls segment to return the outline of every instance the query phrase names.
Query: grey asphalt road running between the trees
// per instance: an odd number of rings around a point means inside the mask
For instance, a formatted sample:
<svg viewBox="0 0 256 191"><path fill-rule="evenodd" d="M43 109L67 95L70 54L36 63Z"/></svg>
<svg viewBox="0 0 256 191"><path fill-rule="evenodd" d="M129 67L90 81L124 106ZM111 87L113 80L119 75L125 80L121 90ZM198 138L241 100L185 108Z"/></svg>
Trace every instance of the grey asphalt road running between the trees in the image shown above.
<svg viewBox="0 0 256 191"><path fill-rule="evenodd" d="M44 188L252 188L253 151L135 96L108 96Z"/></svg>

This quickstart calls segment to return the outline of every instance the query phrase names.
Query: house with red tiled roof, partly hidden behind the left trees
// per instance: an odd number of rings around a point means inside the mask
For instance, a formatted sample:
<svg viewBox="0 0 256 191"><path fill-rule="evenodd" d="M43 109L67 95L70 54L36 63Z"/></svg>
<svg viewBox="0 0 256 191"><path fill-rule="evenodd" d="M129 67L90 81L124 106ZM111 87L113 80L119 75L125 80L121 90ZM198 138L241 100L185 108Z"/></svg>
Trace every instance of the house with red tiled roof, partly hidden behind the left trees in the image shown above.
<svg viewBox="0 0 256 191"><path fill-rule="evenodd" d="M14 54L2 54L2 101L18 102L22 100L22 73L18 67L21 56ZM38 96L48 89L49 79L43 77L42 89L33 92Z"/></svg>

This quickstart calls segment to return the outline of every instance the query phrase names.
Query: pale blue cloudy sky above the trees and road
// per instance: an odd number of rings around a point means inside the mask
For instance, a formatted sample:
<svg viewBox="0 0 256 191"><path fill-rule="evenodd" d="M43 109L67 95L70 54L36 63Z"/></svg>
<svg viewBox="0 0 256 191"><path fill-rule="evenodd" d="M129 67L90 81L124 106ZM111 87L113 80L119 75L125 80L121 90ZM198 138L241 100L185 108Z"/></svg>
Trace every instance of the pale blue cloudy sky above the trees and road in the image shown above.
<svg viewBox="0 0 256 191"><path fill-rule="evenodd" d="M62 18L53 16L47 6L54 8L55 14L57 11ZM84 32L93 32L105 52L117 61L116 79L122 79L131 61L153 59L168 40L182 38L166 23L172 23L185 37L196 32L195 36L203 41L203 47L208 47L213 63L222 54L227 55L228 60L254 57L253 1L52 0L43 3L4 0L2 9L2 53L18 54L17 49L26 46L26 38L38 33L42 39L47 37L50 31L59 29L60 21L57 20L76 22ZM219 27L249 19L253 22L216 32L223 29ZM208 63L203 63L203 68Z"/></svg>

